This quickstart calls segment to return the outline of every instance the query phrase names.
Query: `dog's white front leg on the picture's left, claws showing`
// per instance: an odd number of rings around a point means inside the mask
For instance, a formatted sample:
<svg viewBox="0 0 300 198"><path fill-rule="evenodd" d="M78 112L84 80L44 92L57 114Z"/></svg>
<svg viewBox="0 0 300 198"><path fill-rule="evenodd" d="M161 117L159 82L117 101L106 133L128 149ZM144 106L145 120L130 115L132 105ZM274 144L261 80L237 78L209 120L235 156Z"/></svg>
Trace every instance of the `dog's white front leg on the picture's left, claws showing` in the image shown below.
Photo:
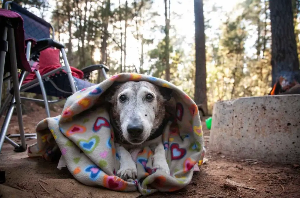
<svg viewBox="0 0 300 198"><path fill-rule="evenodd" d="M116 151L120 157L120 169L117 171L117 176L123 180L137 178L137 165L133 161L130 153L116 143Z"/></svg>

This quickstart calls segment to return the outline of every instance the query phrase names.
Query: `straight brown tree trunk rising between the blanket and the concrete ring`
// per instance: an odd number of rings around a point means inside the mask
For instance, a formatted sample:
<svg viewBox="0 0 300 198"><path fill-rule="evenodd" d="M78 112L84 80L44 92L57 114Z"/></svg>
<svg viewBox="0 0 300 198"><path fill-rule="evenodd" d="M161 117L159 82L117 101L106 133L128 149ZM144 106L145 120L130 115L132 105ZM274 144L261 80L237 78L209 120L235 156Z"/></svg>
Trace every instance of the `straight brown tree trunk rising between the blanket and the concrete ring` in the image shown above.
<svg viewBox="0 0 300 198"><path fill-rule="evenodd" d="M194 0L194 12L196 43L196 74L194 100L196 104L202 104L203 110L205 111L204 113L207 113L205 33L202 0Z"/></svg>

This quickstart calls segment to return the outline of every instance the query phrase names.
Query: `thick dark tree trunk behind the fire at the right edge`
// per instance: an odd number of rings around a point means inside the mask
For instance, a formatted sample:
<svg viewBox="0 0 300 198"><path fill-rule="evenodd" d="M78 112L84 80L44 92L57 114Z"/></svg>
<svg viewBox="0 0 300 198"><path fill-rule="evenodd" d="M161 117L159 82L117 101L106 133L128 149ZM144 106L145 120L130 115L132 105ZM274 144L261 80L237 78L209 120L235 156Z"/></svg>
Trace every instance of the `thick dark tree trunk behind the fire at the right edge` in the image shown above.
<svg viewBox="0 0 300 198"><path fill-rule="evenodd" d="M281 74L299 73L291 0L270 0L272 86ZM295 80L300 81L299 74Z"/></svg>

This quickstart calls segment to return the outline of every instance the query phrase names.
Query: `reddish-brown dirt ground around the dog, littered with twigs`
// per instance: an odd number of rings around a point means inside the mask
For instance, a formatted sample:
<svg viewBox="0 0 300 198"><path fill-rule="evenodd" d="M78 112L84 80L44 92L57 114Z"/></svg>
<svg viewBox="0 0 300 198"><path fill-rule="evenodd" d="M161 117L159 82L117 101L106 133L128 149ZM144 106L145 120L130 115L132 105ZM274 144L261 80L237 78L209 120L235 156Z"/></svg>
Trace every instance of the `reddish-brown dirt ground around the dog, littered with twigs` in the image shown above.
<svg viewBox="0 0 300 198"><path fill-rule="evenodd" d="M25 131L34 132L36 124L46 114L43 108L33 105L34 112L24 115ZM59 109L58 109L58 112ZM58 112L51 112L52 116ZM3 118L0 124L2 125ZM299 165L280 165L256 160L234 159L209 150L209 130L205 118L204 129L208 162L194 173L191 183L173 193L155 193L148 197L300 197ZM17 119L13 116L8 133L17 133ZM34 143L29 140L27 144ZM139 197L140 194L120 193L80 184L68 170L58 170L56 163L29 158L26 153L14 153L4 143L0 155L0 170L6 171L6 182L0 185L0 197ZM227 180L227 182L226 182ZM233 185L225 185L226 183Z"/></svg>

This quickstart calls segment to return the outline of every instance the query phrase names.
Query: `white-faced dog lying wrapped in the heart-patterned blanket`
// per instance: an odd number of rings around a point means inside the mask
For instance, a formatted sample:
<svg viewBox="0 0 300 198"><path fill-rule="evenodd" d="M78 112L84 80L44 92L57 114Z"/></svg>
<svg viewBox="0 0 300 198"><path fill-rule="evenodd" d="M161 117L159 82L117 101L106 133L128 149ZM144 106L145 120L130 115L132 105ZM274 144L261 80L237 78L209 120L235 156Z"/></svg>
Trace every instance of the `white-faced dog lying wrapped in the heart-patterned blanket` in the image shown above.
<svg viewBox="0 0 300 198"><path fill-rule="evenodd" d="M120 178L137 178L137 166L131 152L146 146L154 151L152 167L170 175L162 133L168 122L165 104L171 97L172 89L146 81L129 81L106 91L105 101L110 104L110 123L120 158L117 171Z"/></svg>

